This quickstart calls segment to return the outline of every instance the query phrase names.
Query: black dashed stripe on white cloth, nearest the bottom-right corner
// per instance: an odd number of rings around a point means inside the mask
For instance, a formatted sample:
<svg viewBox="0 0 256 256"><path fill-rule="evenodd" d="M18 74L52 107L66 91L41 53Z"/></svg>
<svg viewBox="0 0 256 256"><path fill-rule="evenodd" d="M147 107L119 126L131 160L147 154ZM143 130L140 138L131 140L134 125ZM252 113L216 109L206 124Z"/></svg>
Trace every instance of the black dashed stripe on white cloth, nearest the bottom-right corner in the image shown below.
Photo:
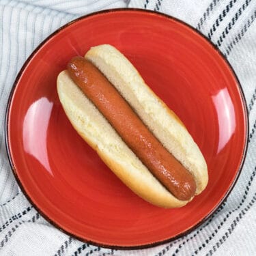
<svg viewBox="0 0 256 256"><path fill-rule="evenodd" d="M238 225L239 221L242 220L242 217L246 214L246 212L248 212L248 210L250 210L250 208L253 206L253 204L256 201L256 193L253 196L253 199L251 199L251 202L248 203L248 205L246 206L246 208L244 208L240 214L238 214L238 216L233 220L233 223L231 223L230 227L227 229L227 231L225 232L225 236L222 236L222 238L220 240L218 240L218 242L216 242L216 244L214 246L212 246L212 249L209 251L209 253L207 254L208 256L212 255L214 252L217 251L217 249L227 240L227 238L229 238L229 236L231 235L231 233L234 231L234 229L236 228L236 226Z"/></svg>

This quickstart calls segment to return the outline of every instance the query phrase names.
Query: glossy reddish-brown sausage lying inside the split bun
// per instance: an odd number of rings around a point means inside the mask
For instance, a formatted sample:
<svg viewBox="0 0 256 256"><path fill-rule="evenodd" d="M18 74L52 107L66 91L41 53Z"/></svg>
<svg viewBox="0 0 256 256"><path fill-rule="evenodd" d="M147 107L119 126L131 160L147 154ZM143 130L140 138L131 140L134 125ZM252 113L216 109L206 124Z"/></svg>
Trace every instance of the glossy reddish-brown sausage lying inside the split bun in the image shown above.
<svg viewBox="0 0 256 256"><path fill-rule="evenodd" d="M83 57L74 57L67 68L74 83L160 183L177 199L193 197L196 190L193 175L154 137L98 68Z"/></svg>

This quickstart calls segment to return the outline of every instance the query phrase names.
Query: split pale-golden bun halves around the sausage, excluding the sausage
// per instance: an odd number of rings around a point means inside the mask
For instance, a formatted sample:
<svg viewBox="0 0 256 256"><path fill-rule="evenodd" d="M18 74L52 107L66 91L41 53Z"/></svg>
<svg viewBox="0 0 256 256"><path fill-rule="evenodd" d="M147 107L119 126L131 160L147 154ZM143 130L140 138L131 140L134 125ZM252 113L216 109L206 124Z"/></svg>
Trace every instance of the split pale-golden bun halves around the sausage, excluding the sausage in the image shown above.
<svg viewBox="0 0 256 256"><path fill-rule="evenodd" d="M151 132L193 174L197 184L196 194L201 193L208 183L207 165L199 147L175 113L145 85L130 61L113 46L93 47L85 58L111 81ZM164 208L181 207L188 203L176 199L158 182L70 79L68 72L59 74L57 91L63 109L77 132L134 193Z"/></svg>

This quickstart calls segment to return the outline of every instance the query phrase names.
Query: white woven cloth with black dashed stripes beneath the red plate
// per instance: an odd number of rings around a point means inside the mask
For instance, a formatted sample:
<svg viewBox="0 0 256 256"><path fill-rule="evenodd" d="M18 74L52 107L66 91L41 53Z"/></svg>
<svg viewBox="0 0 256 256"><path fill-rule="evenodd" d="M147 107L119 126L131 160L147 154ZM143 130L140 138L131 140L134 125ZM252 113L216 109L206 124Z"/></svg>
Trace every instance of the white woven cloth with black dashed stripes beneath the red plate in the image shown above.
<svg viewBox="0 0 256 256"><path fill-rule="evenodd" d="M18 188L4 139L8 95L33 49L74 18L122 7L170 14L212 40L238 75L250 124L242 174L214 216L179 240L137 251L85 244L47 223ZM256 0L0 0L0 19L0 255L256 255Z"/></svg>

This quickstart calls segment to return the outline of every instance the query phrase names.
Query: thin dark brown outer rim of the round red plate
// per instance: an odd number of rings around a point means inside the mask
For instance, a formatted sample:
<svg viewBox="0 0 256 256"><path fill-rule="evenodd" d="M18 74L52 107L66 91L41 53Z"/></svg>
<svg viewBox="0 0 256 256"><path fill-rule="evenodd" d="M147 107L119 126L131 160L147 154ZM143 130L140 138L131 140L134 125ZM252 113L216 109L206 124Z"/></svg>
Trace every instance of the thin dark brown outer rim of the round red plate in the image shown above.
<svg viewBox="0 0 256 256"><path fill-rule="evenodd" d="M123 245L114 245L114 244L103 244L100 242L95 242L92 240L87 240L85 238L81 238L80 236L75 235L74 233L72 233L72 231L67 231L65 229L63 229L59 224L55 223L55 221L53 221L49 216L47 216L46 214L44 214L44 212L42 212L42 210L40 209L40 207L38 207L38 205L36 204L36 202L32 201L32 199L29 197L28 193L26 192L25 186L23 186L22 182L20 181L19 177L18 177L18 172L16 171L15 167L14 167L14 163L12 160L12 155L11 155L11 149L10 149L10 145L9 145L9 134L8 134L8 123L9 123L9 115L10 115L10 107L12 104L12 99L14 96L14 91L17 87L18 81L20 80L20 77L23 75L23 72L25 72L26 67L29 65L29 62L31 61L31 59L33 59L33 56L38 53L38 51L40 51L40 48L42 48L42 46L44 46L44 44L46 42L48 42L48 40L51 40L51 38L54 38L55 35L57 35L58 33L60 33L63 29L66 29L66 27L70 27L70 25L79 22L80 20L84 20L86 18L89 18L90 16L97 16L100 14L107 14L107 13L114 13L114 12L141 12L142 14L151 14L154 16L160 16L163 18L167 18L169 20L174 20L177 23L180 23L182 25L184 25L185 27L188 27L190 30L192 30L193 32L197 33L198 35L201 36L201 38L203 38L204 40L206 40L208 42L208 44L210 46L212 46L212 48L214 49L214 51L216 51L216 53L218 55L221 56L221 59L223 59L223 61L225 61L225 63L227 64L227 68L229 68L229 70L231 71L231 74L233 75L233 78L236 80L237 85L238 85L238 89L240 92L240 98L242 100L242 105L243 105L243 110L244 110L244 124L245 124L245 132L244 132L244 148L243 148L243 152L242 152L242 156L241 156L241 160L240 160L240 165L236 171L236 176L233 179L233 182L230 184L229 189L226 191L225 195L222 197L222 199L218 202L218 204L216 205L216 207L214 209L212 209L211 212L209 212L206 216L204 216L196 225L193 225L192 227L188 227L188 229L185 229L184 231L182 231L181 233L179 233L177 236L173 236L172 238L167 238L165 240L158 240L156 242L150 242L147 244L138 244L138 245L132 245L132 246L123 246ZM53 225L56 229L58 229L59 231L62 231L63 233L66 233L66 235L68 236L72 236L73 238L76 238L77 240L80 240L81 242L85 242L85 243L89 243L91 245L94 246L99 246L102 248L110 248L110 249L117 249L117 250L137 250L137 249L143 249L143 248L152 248L154 246L158 246L158 245L163 245L166 244L167 242L173 242L175 240L177 240L178 238L182 238L183 236L188 235L188 233L191 233L192 231L194 231L195 229L197 229L197 227L199 227L200 225L202 225L203 223L205 223L205 221L207 221L209 218L211 218L212 216L214 216L214 213L216 213L218 211L219 208L221 208L221 205L223 204L223 202L225 202L227 200L227 197L229 197L231 191L233 190L233 187L236 185L236 182L238 182L238 178L242 172L242 168L244 166L244 160L246 158L246 154L247 154L247 150L248 150L248 141L249 141L249 121L248 121L248 107L246 105L246 98L244 96L244 91L242 89L242 85L238 79L238 76L236 74L236 72L233 70L233 67L231 66L231 64L229 63L227 57L218 49L218 47L211 42L205 35L203 35L203 33L201 33L201 31L198 31L197 29L195 29L195 27L193 27L192 25L186 23L184 20L180 20L179 18L175 18L169 14L164 14L161 12L156 12L153 10L145 10L145 9L140 9L140 8L115 8L115 9L106 9L106 10L100 10L97 12L91 12L89 14L85 14L83 16L79 16L78 18L75 18L74 20L69 21L68 23L66 23L65 25L62 25L61 27L59 27L58 29L56 29L55 31L53 31L53 33L51 33L50 35L48 35L44 40L42 40L42 42L40 42L40 44L38 44L37 47L35 47L35 49L32 51L32 53L29 55L29 57L27 57L27 59L25 60L25 62L23 63L23 66L20 68L20 71L18 72L18 74L16 75L16 79L14 80L14 83L12 85L12 89L10 91L9 97L8 97L8 103L5 109L5 120L4 120L4 133L5 133L5 147L6 147L6 151L7 151L7 156L8 156L8 160L10 162L10 167L12 169L12 172L14 173L14 177L16 179L16 182L18 183L18 186L20 187L20 190L23 192L23 195L25 195L25 197L27 198L27 200L29 201L29 203L31 203L31 205L33 205L33 208L35 208L35 210L37 210L40 215L46 219L46 221L48 221L48 223L51 223L51 225Z"/></svg>

